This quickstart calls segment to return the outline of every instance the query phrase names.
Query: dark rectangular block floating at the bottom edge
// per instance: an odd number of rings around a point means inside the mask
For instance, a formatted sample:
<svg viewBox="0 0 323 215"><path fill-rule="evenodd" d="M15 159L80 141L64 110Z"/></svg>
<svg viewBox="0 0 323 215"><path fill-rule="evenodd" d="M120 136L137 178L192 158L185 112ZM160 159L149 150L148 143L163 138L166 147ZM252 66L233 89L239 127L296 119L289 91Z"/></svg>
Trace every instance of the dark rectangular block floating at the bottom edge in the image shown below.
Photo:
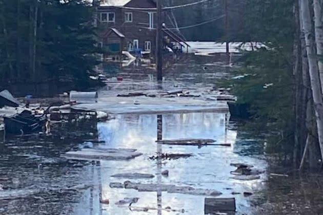
<svg viewBox="0 0 323 215"><path fill-rule="evenodd" d="M235 210L235 198L205 198L205 214L216 214L217 212L234 214Z"/></svg>

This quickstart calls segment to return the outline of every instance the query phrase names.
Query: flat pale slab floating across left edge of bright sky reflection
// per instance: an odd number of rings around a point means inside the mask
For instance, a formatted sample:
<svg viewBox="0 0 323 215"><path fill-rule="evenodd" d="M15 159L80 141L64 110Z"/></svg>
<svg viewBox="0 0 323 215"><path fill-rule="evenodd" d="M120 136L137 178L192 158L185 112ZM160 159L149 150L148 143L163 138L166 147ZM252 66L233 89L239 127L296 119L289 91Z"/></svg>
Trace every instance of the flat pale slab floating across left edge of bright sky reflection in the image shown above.
<svg viewBox="0 0 323 215"><path fill-rule="evenodd" d="M62 157L74 160L130 160L143 155L129 148L83 148L76 152L67 152Z"/></svg>

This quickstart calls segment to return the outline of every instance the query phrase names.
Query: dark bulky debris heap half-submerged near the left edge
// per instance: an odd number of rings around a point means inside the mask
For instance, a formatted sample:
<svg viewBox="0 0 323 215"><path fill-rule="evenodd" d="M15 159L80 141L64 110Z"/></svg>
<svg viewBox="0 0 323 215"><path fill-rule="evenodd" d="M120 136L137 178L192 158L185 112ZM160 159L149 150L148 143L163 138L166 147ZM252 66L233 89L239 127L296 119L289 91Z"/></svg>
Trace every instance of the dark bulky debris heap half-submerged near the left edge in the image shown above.
<svg viewBox="0 0 323 215"><path fill-rule="evenodd" d="M6 134L32 134L41 132L46 122L45 116L34 116L23 111L12 117L4 117Z"/></svg>

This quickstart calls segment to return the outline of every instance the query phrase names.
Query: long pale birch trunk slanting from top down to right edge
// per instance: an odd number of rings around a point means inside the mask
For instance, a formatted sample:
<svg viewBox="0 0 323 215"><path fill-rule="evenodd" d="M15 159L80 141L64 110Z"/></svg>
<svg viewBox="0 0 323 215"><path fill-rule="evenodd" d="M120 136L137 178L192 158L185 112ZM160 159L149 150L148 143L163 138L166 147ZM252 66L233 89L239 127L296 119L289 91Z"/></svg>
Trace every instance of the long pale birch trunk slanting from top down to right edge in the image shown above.
<svg viewBox="0 0 323 215"><path fill-rule="evenodd" d="M302 27L305 33L306 51L309 61L311 88L313 94L314 110L317 124L317 134L320 146L321 157L323 158L323 100L321 96L321 85L318 73L318 65L315 51L315 43L312 35L312 20L310 16L309 2L300 1L300 16Z"/></svg>

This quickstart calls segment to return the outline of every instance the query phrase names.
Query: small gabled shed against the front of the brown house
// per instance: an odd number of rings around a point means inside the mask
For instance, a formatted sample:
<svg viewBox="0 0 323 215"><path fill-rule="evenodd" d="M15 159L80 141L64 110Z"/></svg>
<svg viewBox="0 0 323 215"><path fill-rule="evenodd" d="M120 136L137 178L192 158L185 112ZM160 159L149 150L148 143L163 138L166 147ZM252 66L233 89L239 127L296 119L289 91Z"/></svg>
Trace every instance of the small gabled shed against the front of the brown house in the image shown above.
<svg viewBox="0 0 323 215"><path fill-rule="evenodd" d="M102 36L102 48L107 54L122 54L126 37L116 28L108 29Z"/></svg>

